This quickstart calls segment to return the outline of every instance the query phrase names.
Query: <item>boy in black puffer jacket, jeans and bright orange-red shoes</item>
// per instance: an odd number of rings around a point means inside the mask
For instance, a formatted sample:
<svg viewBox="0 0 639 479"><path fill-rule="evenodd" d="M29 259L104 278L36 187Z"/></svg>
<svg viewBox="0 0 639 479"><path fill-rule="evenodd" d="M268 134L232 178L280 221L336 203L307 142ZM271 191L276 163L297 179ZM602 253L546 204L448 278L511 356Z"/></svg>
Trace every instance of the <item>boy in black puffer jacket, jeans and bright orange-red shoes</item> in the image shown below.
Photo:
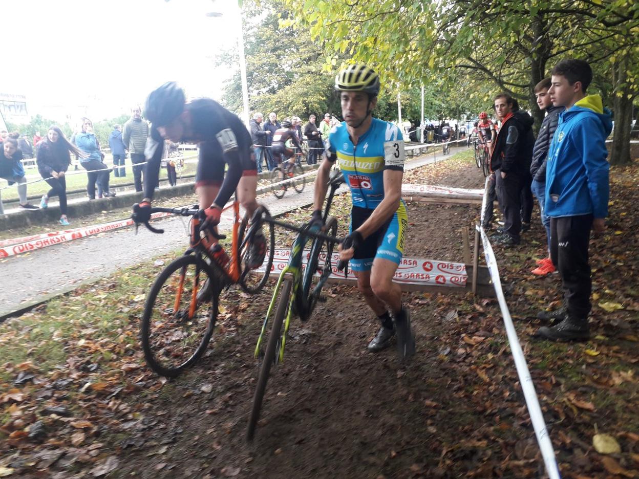
<svg viewBox="0 0 639 479"><path fill-rule="evenodd" d="M530 174L532 175L532 193L539 201L539 216L541 223L546 229L546 239L548 239L548 257L537 261L538 268L532 270L534 275L547 275L555 271L555 265L550 259L550 217L544 213L546 206L546 162L548 161L548 149L553 139L557 124L559 122L559 114L564 111L564 107L554 107L550 101L548 89L550 89L550 77L541 80L535 86L535 97L537 98L537 106L542 111L546 111L546 117L541 122L539 135L532 149L532 163L530 164Z"/></svg>

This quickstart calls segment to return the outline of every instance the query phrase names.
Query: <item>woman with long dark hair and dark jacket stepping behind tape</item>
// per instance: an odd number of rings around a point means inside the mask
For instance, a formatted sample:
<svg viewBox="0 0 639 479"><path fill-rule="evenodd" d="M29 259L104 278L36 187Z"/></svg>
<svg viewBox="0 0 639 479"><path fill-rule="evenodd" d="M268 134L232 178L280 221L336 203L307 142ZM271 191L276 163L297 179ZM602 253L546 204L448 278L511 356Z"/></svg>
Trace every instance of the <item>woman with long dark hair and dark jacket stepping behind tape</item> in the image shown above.
<svg viewBox="0 0 639 479"><path fill-rule="evenodd" d="M58 126L51 126L47 137L40 143L36 164L40 176L51 189L42 195L40 208L49 208L49 198L57 196L60 199L60 224L69 225L66 217L66 170L71 164L71 155L84 157L85 153L73 146Z"/></svg>

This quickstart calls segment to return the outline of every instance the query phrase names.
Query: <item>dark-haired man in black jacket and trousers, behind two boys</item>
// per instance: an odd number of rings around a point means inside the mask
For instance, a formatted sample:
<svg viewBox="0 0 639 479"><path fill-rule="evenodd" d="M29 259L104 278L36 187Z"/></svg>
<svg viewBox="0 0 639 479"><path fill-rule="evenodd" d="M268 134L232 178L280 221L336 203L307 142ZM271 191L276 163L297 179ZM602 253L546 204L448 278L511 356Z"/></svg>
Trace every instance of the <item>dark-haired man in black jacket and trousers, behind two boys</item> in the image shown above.
<svg viewBox="0 0 639 479"><path fill-rule="evenodd" d="M493 239L512 246L521 241L521 192L532 161L534 120L527 112L519 110L507 93L495 96L495 113L502 121L502 128L497 135L490 167L495 171L495 190L505 224L504 231Z"/></svg>

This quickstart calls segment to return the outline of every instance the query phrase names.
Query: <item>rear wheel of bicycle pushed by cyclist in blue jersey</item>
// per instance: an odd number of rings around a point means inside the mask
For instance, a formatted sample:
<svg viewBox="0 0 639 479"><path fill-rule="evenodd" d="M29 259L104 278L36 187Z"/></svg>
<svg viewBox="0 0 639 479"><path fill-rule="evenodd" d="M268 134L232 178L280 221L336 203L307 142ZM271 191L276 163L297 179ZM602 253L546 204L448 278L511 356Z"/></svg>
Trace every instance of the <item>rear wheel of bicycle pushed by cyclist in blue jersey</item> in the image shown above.
<svg viewBox="0 0 639 479"><path fill-rule="evenodd" d="M328 217L323 230L329 236L337 235L337 219ZM335 243L324 241L321 238L313 240L309 262L302 279L302 291L298 291L298 294L295 295L295 308L302 321L311 317L319 300L321 289L332 272L334 249Z"/></svg>

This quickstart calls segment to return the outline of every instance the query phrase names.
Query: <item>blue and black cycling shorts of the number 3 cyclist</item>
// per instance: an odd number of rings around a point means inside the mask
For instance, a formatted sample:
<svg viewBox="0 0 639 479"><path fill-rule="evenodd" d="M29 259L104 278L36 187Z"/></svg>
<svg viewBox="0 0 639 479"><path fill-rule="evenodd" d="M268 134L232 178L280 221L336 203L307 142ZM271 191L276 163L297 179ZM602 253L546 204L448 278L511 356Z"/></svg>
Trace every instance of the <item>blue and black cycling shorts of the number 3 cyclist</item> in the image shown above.
<svg viewBox="0 0 639 479"><path fill-rule="evenodd" d="M374 209L351 208L350 231L360 227L373 213ZM351 270L370 271L375 258L388 259L394 263L401 262L404 254L404 239L406 238L406 226L408 225L408 214L406 204L399 202L399 208L380 229L364 239L364 243L355 250L355 255L351 259Z"/></svg>

